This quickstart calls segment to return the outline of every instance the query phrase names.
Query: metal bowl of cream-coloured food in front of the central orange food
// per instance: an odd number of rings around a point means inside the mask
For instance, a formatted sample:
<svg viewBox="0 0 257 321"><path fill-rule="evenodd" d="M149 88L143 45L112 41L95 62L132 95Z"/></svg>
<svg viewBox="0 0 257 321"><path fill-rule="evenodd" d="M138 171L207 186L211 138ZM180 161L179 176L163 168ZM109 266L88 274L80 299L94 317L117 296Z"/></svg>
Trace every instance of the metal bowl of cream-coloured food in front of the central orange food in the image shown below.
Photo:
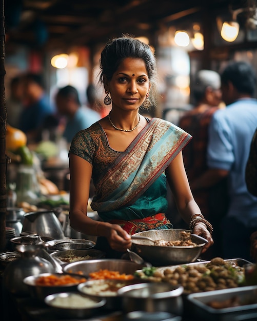
<svg viewBox="0 0 257 321"><path fill-rule="evenodd" d="M144 283L144 280L95 279L79 284L77 289L94 298L104 297L106 299L105 308L113 310L122 305L122 297L117 291L122 287L137 283Z"/></svg>

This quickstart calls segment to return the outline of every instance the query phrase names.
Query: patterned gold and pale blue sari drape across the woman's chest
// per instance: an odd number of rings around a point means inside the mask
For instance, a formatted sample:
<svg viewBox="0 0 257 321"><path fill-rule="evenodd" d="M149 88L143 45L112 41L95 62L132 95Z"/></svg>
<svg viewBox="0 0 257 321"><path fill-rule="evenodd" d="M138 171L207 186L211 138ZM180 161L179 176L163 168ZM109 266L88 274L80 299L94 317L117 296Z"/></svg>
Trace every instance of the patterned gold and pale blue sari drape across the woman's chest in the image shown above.
<svg viewBox="0 0 257 321"><path fill-rule="evenodd" d="M91 208L110 212L136 202L190 139L191 135L169 122L150 119L126 152L120 153L102 173Z"/></svg>

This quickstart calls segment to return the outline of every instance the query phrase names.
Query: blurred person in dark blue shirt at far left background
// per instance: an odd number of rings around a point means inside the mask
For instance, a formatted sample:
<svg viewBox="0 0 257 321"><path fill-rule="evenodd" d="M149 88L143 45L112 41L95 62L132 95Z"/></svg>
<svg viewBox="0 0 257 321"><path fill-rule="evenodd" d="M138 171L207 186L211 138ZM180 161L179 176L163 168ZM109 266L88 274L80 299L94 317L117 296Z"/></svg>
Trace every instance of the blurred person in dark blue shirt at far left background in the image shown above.
<svg viewBox="0 0 257 321"><path fill-rule="evenodd" d="M23 110L19 117L18 128L28 138L28 143L42 140L42 131L46 117L54 113L45 91L41 74L27 73L20 79L23 91Z"/></svg>

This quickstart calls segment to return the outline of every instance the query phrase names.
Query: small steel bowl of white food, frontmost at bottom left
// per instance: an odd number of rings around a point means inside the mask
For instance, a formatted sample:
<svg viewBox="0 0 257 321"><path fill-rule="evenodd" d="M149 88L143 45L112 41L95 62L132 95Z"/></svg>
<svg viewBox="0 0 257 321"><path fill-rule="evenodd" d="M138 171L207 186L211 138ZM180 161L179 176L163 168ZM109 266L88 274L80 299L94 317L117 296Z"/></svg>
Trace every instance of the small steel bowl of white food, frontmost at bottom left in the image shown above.
<svg viewBox="0 0 257 321"><path fill-rule="evenodd" d="M58 305L57 301L58 300ZM62 292L48 295L45 303L51 310L66 318L85 318L98 312L106 304L104 298L92 298L79 292ZM75 302L74 302L75 301ZM73 305L75 303L76 306ZM90 303L90 306L88 305Z"/></svg>

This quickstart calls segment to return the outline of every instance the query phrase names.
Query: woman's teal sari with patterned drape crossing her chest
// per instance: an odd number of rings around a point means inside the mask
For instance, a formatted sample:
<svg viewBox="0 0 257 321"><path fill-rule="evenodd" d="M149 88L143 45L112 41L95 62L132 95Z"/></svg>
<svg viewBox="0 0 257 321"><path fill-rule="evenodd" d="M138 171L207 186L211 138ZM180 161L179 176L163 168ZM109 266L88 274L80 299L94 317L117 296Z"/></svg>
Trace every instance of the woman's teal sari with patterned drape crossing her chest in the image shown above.
<svg viewBox="0 0 257 321"><path fill-rule="evenodd" d="M140 219L167 210L165 169L191 136L152 118L127 150L103 172L91 208L103 220Z"/></svg>

